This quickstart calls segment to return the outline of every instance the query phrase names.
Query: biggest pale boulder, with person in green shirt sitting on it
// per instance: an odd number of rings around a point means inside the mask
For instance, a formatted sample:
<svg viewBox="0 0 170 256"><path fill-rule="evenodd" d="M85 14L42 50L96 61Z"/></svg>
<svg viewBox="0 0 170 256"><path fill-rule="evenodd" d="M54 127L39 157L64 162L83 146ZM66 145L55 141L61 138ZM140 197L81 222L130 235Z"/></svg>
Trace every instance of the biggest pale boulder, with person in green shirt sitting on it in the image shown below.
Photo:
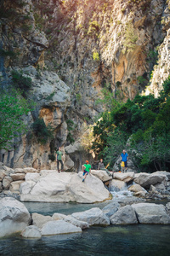
<svg viewBox="0 0 170 256"><path fill-rule="evenodd" d="M94 203L110 198L99 178L88 175L82 183L82 172L50 172L43 171L37 183L28 181L20 185L21 201L55 201Z"/></svg>

